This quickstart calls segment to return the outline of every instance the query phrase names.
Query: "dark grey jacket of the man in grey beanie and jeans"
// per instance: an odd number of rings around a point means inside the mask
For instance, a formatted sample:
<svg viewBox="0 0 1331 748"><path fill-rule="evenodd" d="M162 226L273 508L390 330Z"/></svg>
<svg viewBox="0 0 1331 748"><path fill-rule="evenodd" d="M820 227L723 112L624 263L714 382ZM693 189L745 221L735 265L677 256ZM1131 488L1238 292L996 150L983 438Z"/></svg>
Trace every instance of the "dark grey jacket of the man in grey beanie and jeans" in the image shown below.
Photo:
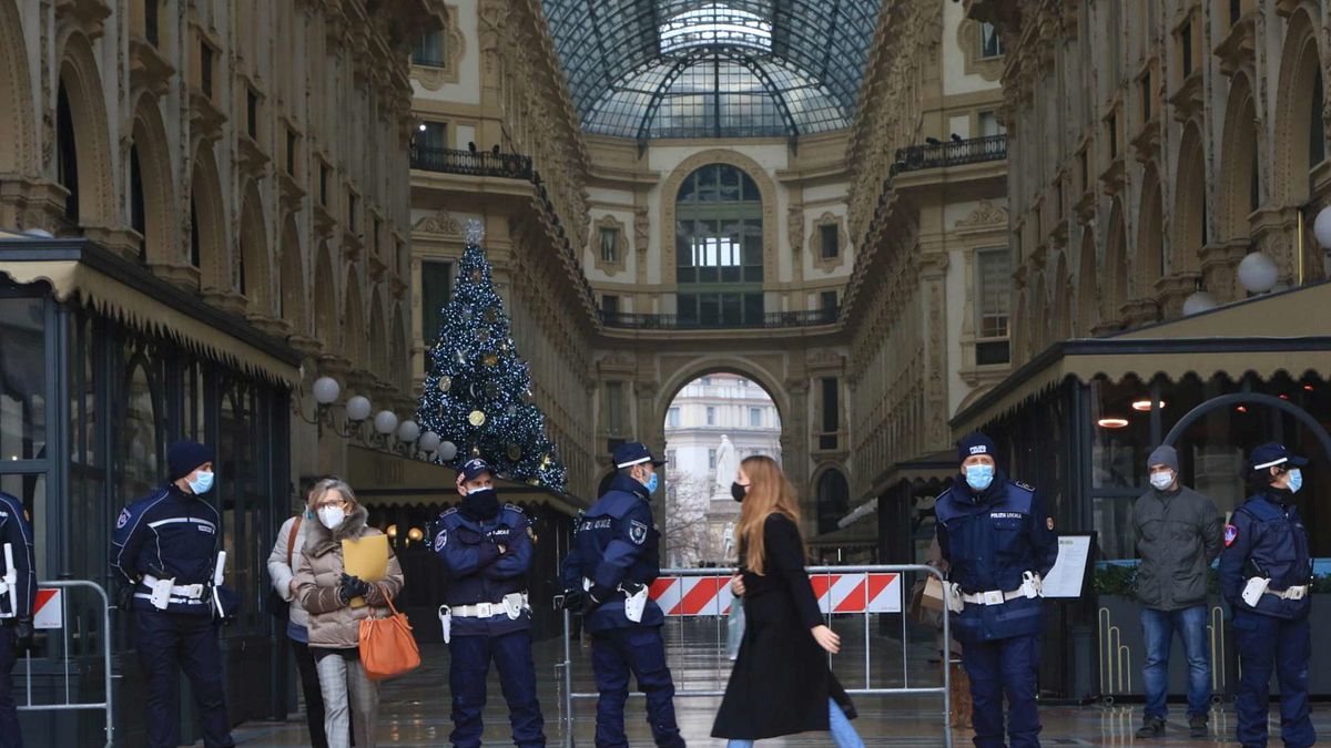
<svg viewBox="0 0 1331 748"><path fill-rule="evenodd" d="M1207 568L1225 546L1222 524L1215 503L1186 486L1174 494L1151 488L1137 499L1137 598L1143 606L1177 611L1206 603Z"/></svg>

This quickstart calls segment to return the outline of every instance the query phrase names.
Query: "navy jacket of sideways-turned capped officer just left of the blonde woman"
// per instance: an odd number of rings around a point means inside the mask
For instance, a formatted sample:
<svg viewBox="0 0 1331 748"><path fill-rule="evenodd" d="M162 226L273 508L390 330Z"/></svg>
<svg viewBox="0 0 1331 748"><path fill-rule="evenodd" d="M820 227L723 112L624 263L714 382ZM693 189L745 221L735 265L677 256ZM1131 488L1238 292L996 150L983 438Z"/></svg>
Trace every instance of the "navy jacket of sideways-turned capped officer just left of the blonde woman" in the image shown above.
<svg viewBox="0 0 1331 748"><path fill-rule="evenodd" d="M655 600L647 600L639 623L624 615L620 586L651 584L660 576L660 534L652 523L651 494L626 475L615 475L595 504L574 527L574 543L564 559L564 588L582 590L590 579L602 604L586 616L587 631L631 626L660 626L666 616ZM604 595L604 596L602 596Z"/></svg>

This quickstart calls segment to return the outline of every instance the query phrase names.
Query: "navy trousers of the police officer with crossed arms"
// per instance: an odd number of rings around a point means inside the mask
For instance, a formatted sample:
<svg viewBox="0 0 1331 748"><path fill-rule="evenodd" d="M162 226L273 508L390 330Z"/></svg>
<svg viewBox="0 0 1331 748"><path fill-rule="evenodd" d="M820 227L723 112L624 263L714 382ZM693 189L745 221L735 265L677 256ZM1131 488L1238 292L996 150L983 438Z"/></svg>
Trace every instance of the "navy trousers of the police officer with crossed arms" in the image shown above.
<svg viewBox="0 0 1331 748"><path fill-rule="evenodd" d="M499 688L508 703L512 743L519 748L546 744L544 720L536 701L536 667L531 661L531 631L499 636L453 636L449 643L449 687L453 689L453 735L458 748L480 748L490 661L499 671Z"/></svg>

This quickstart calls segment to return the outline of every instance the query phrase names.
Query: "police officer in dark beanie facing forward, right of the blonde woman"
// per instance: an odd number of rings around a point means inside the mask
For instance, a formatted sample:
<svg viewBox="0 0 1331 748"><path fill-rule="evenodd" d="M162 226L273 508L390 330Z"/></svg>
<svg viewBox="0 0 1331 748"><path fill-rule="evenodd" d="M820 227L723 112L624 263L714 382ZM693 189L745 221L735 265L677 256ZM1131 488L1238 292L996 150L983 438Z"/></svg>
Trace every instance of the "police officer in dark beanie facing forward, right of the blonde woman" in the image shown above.
<svg viewBox="0 0 1331 748"><path fill-rule="evenodd" d="M1012 748L1040 745L1036 671L1042 608L1040 580L1054 567L1054 520L1030 486L998 470L994 443L970 434L957 443L961 475L934 507L938 547L950 564L952 635L970 676L977 748L1005 748L1004 692Z"/></svg>

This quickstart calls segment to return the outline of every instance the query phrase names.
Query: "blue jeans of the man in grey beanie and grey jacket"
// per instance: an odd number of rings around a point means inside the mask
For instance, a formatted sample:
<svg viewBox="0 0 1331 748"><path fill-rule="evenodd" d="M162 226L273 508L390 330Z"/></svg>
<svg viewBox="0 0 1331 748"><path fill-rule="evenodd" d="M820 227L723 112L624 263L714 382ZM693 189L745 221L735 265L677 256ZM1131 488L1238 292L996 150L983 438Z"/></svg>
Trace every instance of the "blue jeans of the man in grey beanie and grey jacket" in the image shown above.
<svg viewBox="0 0 1331 748"><path fill-rule="evenodd" d="M1146 642L1146 665L1142 685L1146 689L1146 716L1165 719L1169 709L1169 650L1174 632L1183 640L1187 657L1187 716L1206 716L1211 711L1211 655L1206 636L1207 606L1177 611L1142 608L1142 639Z"/></svg>

